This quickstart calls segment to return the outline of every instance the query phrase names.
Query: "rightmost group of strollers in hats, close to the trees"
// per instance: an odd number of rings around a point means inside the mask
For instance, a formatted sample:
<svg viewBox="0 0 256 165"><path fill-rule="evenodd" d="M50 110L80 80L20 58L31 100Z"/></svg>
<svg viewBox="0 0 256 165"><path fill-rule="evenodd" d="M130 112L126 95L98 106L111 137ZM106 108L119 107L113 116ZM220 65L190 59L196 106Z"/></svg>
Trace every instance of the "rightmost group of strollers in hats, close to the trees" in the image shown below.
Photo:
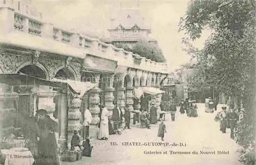
<svg viewBox="0 0 256 165"><path fill-rule="evenodd" d="M237 123L243 119L243 109L234 109L232 106L227 109L222 106L222 111L218 112L215 116L215 121L220 122L220 131L226 133L226 129L230 128L230 138L234 138L234 128Z"/></svg>

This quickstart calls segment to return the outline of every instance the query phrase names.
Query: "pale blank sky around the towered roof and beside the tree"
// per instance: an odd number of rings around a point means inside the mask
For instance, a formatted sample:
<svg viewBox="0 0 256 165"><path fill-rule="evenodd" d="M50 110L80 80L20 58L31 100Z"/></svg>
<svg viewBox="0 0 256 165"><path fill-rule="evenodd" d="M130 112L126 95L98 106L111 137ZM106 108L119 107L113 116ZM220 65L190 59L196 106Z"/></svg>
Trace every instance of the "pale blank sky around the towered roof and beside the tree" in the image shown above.
<svg viewBox="0 0 256 165"><path fill-rule="evenodd" d="M138 7L142 15L150 21L150 37L158 41L169 70L177 69L189 61L190 57L182 51L178 32L180 17L185 14L190 0L32 0L32 7L42 12L42 19L63 29L76 29L78 32L108 35L110 17L120 7ZM203 35L204 36L204 35ZM207 36L207 33L206 35ZM194 46L201 49L206 37Z"/></svg>

